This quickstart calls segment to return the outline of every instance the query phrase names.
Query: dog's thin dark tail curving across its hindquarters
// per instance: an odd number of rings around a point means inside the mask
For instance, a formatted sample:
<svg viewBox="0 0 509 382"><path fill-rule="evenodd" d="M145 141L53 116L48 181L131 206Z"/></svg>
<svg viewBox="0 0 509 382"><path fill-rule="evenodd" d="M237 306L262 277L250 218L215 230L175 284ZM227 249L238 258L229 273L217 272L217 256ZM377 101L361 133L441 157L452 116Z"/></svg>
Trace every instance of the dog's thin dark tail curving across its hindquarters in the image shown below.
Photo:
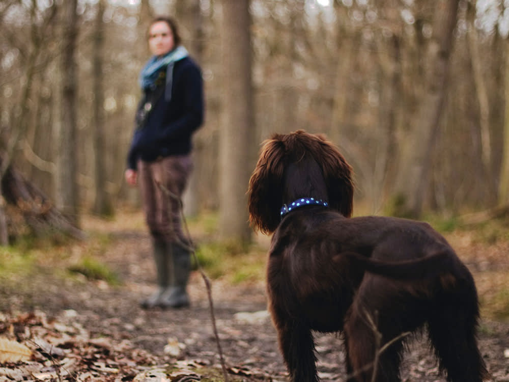
<svg viewBox="0 0 509 382"><path fill-rule="evenodd" d="M393 279L416 279L442 275L450 272L456 257L450 250L441 250L417 259L402 261L377 260L357 252L343 252L340 256L346 256L366 271Z"/></svg>

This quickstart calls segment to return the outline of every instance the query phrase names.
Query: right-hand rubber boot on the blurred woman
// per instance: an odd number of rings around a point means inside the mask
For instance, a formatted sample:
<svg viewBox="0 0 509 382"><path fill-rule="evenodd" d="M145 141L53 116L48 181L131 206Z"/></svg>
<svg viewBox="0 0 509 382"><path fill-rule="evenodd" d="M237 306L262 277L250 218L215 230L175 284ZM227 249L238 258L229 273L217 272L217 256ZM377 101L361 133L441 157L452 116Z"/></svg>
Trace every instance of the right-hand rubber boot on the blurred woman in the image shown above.
<svg viewBox="0 0 509 382"><path fill-rule="evenodd" d="M178 244L170 247L173 252L174 284L161 295L159 306L163 309L188 307L189 295L186 289L191 272L191 256L189 251Z"/></svg>

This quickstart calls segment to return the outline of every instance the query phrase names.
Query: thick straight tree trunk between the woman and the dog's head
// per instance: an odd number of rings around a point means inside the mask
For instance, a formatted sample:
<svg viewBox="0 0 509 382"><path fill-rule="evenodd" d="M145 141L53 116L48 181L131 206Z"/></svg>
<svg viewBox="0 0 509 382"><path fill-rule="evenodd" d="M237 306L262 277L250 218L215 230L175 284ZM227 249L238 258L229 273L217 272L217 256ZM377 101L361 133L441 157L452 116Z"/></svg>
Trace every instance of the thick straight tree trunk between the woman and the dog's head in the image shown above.
<svg viewBox="0 0 509 382"><path fill-rule="evenodd" d="M246 189L254 126L249 0L223 0L223 126L219 138L219 234L247 242Z"/></svg>

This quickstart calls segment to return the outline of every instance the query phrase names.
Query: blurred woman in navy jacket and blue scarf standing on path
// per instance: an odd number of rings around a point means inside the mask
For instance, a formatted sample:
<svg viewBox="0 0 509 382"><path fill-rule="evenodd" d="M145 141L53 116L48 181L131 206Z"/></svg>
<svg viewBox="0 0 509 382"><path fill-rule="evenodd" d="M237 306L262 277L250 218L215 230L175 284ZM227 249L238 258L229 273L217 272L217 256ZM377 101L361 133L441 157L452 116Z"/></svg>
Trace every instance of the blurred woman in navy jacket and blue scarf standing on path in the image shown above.
<svg viewBox="0 0 509 382"><path fill-rule="evenodd" d="M150 23L153 56L140 72L142 99L125 178L139 185L157 269L157 291L143 308L189 306L189 242L182 231L181 198L192 168L191 137L203 123L203 80L181 45L171 18ZM171 196L168 196L168 193Z"/></svg>

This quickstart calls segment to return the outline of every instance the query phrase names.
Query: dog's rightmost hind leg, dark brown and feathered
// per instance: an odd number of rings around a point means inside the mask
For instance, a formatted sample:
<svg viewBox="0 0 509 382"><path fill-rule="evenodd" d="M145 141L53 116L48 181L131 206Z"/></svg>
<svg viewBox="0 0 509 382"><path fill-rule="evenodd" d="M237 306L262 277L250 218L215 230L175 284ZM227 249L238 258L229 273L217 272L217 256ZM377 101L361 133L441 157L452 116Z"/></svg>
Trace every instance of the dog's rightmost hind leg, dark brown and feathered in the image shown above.
<svg viewBox="0 0 509 382"><path fill-rule="evenodd" d="M476 340L478 306L473 281L438 297L428 322L430 342L449 382L482 382L489 377Z"/></svg>

